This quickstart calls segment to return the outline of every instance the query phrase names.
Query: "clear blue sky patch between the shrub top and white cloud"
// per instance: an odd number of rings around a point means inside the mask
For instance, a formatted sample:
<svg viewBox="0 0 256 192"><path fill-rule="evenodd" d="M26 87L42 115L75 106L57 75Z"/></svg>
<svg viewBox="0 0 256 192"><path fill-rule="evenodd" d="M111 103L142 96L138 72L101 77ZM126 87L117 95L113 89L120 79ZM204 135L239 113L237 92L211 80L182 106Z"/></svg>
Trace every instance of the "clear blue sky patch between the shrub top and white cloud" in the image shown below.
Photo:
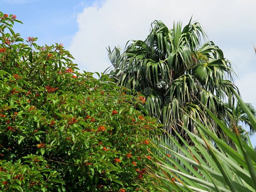
<svg viewBox="0 0 256 192"><path fill-rule="evenodd" d="M78 13L92 4L90 0L0 0L0 9L23 22L14 26L23 38L38 37L40 45L58 42L67 48L78 28Z"/></svg>

